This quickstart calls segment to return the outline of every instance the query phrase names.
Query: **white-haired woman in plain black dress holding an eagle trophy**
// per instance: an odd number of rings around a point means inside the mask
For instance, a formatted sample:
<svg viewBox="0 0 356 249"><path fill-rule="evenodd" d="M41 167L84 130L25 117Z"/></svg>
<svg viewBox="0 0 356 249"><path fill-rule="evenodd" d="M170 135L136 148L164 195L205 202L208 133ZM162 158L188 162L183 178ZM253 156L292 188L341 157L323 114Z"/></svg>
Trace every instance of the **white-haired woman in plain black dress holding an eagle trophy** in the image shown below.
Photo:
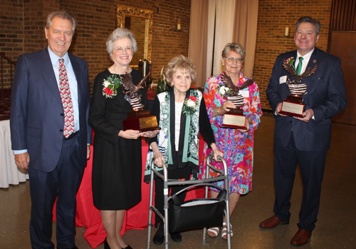
<svg viewBox="0 0 356 249"><path fill-rule="evenodd" d="M89 124L95 130L93 143L93 200L101 210L107 233L105 248L131 248L122 240L120 230L125 210L141 200L141 136L152 137L156 131L124 131L122 121L132 111L121 78L132 76L137 85L142 73L130 68L137 51L135 36L127 29L115 29L106 42L114 62L96 76L90 103ZM140 89L141 103L147 106L146 88Z"/></svg>

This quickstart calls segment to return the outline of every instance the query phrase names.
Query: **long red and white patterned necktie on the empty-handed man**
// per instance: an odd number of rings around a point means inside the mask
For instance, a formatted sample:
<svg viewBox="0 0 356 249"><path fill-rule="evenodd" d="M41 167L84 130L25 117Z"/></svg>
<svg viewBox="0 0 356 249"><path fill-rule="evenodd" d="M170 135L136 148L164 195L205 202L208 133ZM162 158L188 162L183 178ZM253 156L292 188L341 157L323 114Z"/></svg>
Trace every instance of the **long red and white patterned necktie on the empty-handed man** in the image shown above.
<svg viewBox="0 0 356 249"><path fill-rule="evenodd" d="M59 59L59 93L61 93L64 111L63 136L68 138L68 136L70 136L70 134L74 132L74 115L67 70L66 66L64 66L64 59Z"/></svg>

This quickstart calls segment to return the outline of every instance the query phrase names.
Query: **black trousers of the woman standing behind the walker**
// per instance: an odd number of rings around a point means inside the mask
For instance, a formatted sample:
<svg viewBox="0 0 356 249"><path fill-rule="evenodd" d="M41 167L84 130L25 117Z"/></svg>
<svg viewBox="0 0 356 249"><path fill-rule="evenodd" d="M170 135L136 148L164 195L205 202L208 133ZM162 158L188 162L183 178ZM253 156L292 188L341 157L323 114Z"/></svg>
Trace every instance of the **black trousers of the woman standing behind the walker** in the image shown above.
<svg viewBox="0 0 356 249"><path fill-rule="evenodd" d="M163 174L163 172L162 172ZM177 168L177 169L172 169L169 170L168 168L168 179L184 179L184 180L189 180L190 176L192 174L192 168L190 167L185 167L185 168ZM187 186L172 186L169 187L169 193L171 193L169 196L174 195L175 193L178 193L180 190L185 188ZM180 203L184 202L185 196L187 195L187 191L184 191L183 193L180 193L177 195L177 198ZM159 210L159 213L162 213L164 215L164 206L163 206L163 180L161 178L156 178L155 179L155 207ZM172 208L172 201L169 200L169 208ZM169 209L168 208L168 209ZM155 216L156 220L156 226L158 224L163 225L163 220L159 218L158 215Z"/></svg>

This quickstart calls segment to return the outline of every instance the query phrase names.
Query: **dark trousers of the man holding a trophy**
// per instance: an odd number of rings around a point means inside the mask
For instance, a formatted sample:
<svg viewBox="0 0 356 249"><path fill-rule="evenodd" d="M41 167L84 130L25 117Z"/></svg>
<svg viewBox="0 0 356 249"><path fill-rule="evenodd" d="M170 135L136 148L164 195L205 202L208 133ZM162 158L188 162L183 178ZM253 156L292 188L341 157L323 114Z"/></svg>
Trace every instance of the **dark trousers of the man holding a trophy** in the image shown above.
<svg viewBox="0 0 356 249"><path fill-rule="evenodd" d="M281 220L290 218L295 171L299 164L303 180L303 200L298 228L312 231L317 221L321 183L323 182L327 151L298 151L293 133L286 148L274 146L274 183L276 200L273 212Z"/></svg>

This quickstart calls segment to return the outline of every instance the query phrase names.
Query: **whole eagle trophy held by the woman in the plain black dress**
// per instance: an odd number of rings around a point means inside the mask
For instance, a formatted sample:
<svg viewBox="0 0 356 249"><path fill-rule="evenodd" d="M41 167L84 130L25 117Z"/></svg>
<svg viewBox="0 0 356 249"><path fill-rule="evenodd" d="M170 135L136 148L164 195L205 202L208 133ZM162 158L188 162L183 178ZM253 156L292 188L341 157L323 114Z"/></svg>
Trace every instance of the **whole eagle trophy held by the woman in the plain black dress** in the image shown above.
<svg viewBox="0 0 356 249"><path fill-rule="evenodd" d="M150 74L150 73L149 73ZM149 75L147 74L147 76ZM127 119L123 121L124 130L136 130L136 131L154 131L159 130L160 127L157 124L157 118L155 115L150 115L149 110L144 110L141 101L141 96L138 95L138 91L143 88L143 84L145 83L145 79L142 78L140 83L135 86L132 83L132 77L126 73L125 76L122 77L122 84L124 88L127 90L125 93L125 99L132 106L132 110L130 113L127 113ZM130 94L127 94L130 93Z"/></svg>

